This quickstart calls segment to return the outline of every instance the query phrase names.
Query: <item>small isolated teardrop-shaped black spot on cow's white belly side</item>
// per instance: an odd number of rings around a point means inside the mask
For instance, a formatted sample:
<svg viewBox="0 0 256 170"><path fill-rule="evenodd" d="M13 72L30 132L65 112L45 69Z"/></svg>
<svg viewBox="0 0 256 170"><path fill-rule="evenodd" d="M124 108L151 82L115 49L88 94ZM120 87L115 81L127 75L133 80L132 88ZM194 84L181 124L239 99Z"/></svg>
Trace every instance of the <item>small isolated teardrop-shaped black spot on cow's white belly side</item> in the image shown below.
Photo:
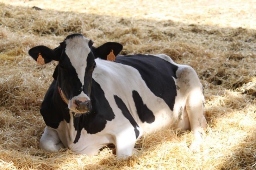
<svg viewBox="0 0 256 170"><path fill-rule="evenodd" d="M151 110L143 103L141 96L135 90L132 91L132 97L137 109L137 114L139 119L144 123L153 123L155 121L155 116Z"/></svg>

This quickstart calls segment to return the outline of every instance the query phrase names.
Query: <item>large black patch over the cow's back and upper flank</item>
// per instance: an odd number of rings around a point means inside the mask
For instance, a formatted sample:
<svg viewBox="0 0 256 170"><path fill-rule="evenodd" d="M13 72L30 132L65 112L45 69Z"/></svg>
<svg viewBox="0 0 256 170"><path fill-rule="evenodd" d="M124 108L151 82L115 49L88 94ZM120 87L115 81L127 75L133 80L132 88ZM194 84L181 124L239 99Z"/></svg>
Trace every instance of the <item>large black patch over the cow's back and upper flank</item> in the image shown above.
<svg viewBox="0 0 256 170"><path fill-rule="evenodd" d="M177 66L160 57L142 54L117 56L114 62L137 69L152 93L162 98L173 111L177 96L173 77L177 79Z"/></svg>

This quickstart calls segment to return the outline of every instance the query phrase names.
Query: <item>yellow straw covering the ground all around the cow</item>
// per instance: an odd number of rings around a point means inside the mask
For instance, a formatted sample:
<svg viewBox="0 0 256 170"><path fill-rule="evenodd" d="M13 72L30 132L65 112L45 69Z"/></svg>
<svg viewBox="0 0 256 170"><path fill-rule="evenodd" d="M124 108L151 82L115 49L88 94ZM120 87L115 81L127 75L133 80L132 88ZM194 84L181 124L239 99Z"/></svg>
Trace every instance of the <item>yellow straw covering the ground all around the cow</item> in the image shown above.
<svg viewBox="0 0 256 170"><path fill-rule="evenodd" d="M256 169L255 2L1 2L0 169ZM122 43L123 55L165 53L192 66L206 98L201 151L189 151L191 132L171 129L143 136L127 160L108 148L94 157L40 150L39 108L57 63L38 66L27 52L71 33L95 46Z"/></svg>

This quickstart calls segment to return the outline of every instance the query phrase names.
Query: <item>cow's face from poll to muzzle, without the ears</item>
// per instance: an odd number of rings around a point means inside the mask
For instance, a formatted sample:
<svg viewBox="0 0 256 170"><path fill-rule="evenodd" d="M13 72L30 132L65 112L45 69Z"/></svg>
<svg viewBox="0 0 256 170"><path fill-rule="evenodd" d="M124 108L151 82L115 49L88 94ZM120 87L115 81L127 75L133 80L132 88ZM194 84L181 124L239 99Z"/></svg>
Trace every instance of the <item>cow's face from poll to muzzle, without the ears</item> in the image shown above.
<svg viewBox="0 0 256 170"><path fill-rule="evenodd" d="M84 36L68 36L60 45L58 85L68 99L68 107L76 113L91 109L92 73L96 66L91 51L92 41Z"/></svg>

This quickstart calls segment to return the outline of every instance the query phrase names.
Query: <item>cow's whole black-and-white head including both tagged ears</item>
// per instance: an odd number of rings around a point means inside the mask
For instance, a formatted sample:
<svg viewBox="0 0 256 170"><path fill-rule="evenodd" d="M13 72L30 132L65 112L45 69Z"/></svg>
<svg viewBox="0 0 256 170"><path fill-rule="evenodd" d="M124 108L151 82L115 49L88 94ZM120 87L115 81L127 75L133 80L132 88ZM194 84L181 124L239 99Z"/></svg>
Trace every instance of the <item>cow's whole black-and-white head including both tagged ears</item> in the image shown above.
<svg viewBox="0 0 256 170"><path fill-rule="evenodd" d="M41 53L45 63L51 60L59 62L53 77L67 99L68 108L75 113L87 113L91 109L90 93L95 59L106 60L111 49L115 56L123 49L117 42L107 42L98 48L92 45L93 41L83 35L71 34L55 49L37 46L29 50L29 55L35 60Z"/></svg>

